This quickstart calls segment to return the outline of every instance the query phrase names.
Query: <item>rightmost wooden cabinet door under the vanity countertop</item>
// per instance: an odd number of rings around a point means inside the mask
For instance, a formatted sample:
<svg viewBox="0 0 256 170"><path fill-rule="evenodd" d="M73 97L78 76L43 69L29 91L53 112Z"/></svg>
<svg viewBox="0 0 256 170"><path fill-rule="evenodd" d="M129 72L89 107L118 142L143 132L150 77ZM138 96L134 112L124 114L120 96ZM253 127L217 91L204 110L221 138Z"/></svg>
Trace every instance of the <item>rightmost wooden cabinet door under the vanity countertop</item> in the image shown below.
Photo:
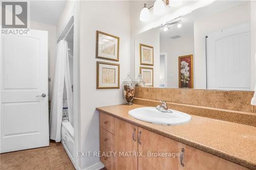
<svg viewBox="0 0 256 170"><path fill-rule="evenodd" d="M206 152L200 151L196 148L189 147L188 145L179 143L179 151L183 152L183 164L179 161L178 169L187 170L187 169L225 169L225 170L245 170L247 168L240 166L236 163L227 161L225 159L219 158L217 156L208 154Z"/></svg>

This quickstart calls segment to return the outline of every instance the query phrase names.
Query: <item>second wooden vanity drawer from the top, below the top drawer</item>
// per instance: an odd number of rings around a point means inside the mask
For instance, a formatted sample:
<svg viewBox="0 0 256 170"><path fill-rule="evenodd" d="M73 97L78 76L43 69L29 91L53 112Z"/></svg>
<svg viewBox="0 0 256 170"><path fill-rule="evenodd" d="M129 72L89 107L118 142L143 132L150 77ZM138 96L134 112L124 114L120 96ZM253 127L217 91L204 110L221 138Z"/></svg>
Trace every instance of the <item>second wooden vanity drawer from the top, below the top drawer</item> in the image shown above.
<svg viewBox="0 0 256 170"><path fill-rule="evenodd" d="M100 128L100 147L105 151L115 151L115 136L103 128Z"/></svg>

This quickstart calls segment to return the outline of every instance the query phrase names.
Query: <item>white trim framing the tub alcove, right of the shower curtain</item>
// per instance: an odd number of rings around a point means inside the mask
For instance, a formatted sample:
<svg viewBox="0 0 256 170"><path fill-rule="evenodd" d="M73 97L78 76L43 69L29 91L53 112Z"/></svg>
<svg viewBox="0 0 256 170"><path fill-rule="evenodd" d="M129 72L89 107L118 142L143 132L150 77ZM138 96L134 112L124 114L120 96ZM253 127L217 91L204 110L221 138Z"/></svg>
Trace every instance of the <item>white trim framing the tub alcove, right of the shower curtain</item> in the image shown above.
<svg viewBox="0 0 256 170"><path fill-rule="evenodd" d="M66 26L69 24L69 21L72 17L74 17L74 44L73 44L73 114L74 114L74 166L78 169L78 113L80 111L80 91L79 91L79 2L76 1L72 12L69 17L67 17L65 25L59 31L56 38L56 45L58 43L58 39L63 31L65 31Z"/></svg>

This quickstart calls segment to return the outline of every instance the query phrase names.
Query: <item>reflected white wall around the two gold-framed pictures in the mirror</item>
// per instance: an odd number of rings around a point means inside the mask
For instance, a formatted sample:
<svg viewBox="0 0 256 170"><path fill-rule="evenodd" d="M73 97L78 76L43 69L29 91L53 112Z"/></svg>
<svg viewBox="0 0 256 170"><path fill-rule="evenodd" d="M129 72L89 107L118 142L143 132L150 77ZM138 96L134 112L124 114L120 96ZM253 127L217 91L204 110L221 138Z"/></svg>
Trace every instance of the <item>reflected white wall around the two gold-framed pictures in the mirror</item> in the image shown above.
<svg viewBox="0 0 256 170"><path fill-rule="evenodd" d="M140 66L154 68L154 87L159 87L160 74L160 29L151 29L135 36L135 77L138 77ZM140 43L154 47L154 66L140 65Z"/></svg>

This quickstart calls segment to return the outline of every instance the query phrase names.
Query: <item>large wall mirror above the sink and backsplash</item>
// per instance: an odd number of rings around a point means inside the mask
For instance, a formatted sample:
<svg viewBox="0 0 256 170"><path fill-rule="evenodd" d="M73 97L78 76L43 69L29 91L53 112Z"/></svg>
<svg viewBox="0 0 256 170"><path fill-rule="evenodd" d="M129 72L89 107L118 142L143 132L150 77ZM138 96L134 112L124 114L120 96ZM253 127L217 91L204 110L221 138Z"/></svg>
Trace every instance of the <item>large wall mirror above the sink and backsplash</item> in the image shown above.
<svg viewBox="0 0 256 170"><path fill-rule="evenodd" d="M147 86L253 90L250 1L215 1L135 36L135 75Z"/></svg>

